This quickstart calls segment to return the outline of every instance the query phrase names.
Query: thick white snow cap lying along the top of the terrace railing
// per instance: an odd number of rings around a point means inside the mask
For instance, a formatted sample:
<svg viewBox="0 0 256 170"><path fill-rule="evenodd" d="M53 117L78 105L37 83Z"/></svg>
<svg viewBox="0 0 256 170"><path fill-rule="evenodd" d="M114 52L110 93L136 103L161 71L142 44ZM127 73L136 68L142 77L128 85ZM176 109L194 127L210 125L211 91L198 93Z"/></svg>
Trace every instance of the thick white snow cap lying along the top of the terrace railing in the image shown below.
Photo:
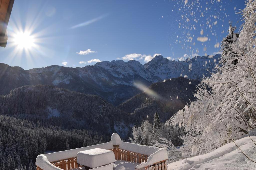
<svg viewBox="0 0 256 170"><path fill-rule="evenodd" d="M38 169L44 169L44 170L61 169L61 168L55 166L54 164L52 164L51 162L65 160L65 159L69 159L69 158L76 158L78 152L84 151L84 150L89 150L89 149L94 149L94 148L112 150L112 149L114 149L114 145L115 146L119 145L121 150L135 152L135 153L139 153L139 154L148 156L147 161L141 162L141 164L139 164L135 167L136 169L144 169L151 165L162 163L163 161L166 161L168 159L166 150L164 150L162 148L138 145L138 144L129 143L129 142L123 142L121 140L120 136L117 133L114 133L112 135L111 141L107 142L107 143L38 155L36 158L36 165L37 165Z"/></svg>

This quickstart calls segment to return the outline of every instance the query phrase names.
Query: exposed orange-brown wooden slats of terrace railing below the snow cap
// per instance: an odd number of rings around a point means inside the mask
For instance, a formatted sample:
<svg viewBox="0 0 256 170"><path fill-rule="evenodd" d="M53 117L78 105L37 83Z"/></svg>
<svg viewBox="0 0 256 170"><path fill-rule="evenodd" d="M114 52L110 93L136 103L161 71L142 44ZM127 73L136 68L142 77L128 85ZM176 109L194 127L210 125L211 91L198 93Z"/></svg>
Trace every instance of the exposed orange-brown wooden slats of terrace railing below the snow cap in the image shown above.
<svg viewBox="0 0 256 170"><path fill-rule="evenodd" d="M124 161L130 161L130 162L135 162L135 163L142 163L142 162L147 162L147 159L148 159L148 155L143 155L140 153L127 151L127 150L123 150L120 148L115 148L115 149L110 149L110 150L114 152L116 160L124 160ZM65 170L81 167L81 166L78 166L76 157L58 160L58 161L54 161L51 163L61 169L65 169ZM167 160L154 163L153 165L145 167L145 169L146 170L167 170ZM37 166L37 170L44 170L44 169Z"/></svg>

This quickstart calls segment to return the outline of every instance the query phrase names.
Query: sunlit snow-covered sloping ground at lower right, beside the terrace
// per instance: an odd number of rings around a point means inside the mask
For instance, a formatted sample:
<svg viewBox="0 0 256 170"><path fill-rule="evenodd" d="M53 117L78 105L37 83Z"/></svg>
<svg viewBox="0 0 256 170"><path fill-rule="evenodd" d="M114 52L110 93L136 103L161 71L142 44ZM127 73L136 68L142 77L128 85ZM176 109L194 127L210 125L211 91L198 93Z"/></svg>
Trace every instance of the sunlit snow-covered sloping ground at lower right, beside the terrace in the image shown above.
<svg viewBox="0 0 256 170"><path fill-rule="evenodd" d="M256 141L256 136L252 135L251 138ZM256 161L256 145L248 136L235 142L246 155ZM173 169L256 169L256 163L246 158L232 142L210 153L168 164L168 170Z"/></svg>

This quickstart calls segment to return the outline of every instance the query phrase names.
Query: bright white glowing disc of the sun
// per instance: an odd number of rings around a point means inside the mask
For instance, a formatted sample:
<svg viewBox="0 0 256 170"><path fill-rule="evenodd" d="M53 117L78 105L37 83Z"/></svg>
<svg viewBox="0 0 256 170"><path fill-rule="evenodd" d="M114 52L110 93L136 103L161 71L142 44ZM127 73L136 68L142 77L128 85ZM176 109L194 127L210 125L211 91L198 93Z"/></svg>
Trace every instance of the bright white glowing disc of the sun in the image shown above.
<svg viewBox="0 0 256 170"><path fill-rule="evenodd" d="M35 46L35 38L29 32L18 32L13 36L13 42L19 49L29 50Z"/></svg>

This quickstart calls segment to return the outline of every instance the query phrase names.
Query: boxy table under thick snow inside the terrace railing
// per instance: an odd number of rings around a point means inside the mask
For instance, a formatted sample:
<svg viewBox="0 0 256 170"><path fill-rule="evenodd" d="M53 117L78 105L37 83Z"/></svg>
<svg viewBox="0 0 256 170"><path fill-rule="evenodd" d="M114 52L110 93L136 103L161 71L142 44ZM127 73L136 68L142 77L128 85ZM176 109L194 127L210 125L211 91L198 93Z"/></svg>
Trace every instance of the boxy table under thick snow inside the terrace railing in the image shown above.
<svg viewBox="0 0 256 170"><path fill-rule="evenodd" d="M77 153L77 163L89 168L96 168L114 162L114 152L106 149L95 148Z"/></svg>

